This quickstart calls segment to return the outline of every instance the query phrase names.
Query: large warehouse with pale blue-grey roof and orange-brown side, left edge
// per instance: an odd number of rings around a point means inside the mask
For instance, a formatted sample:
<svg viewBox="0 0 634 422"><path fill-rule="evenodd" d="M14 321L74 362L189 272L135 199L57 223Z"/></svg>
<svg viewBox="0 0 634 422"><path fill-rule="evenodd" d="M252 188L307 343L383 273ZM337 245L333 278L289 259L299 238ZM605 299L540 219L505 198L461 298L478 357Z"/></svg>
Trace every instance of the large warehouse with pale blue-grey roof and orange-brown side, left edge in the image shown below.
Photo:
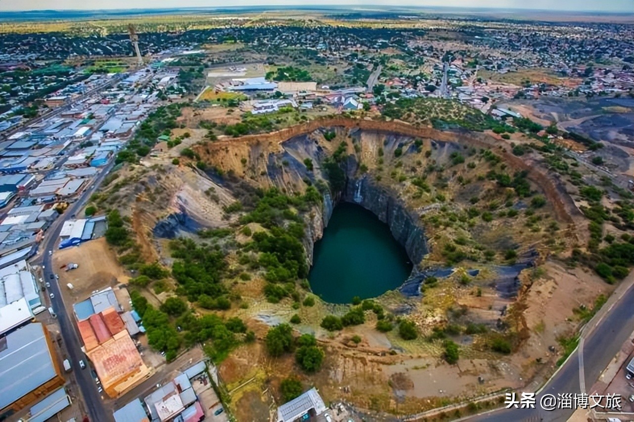
<svg viewBox="0 0 634 422"><path fill-rule="evenodd" d="M27 324L0 341L0 417L46 397L64 382L43 324Z"/></svg>

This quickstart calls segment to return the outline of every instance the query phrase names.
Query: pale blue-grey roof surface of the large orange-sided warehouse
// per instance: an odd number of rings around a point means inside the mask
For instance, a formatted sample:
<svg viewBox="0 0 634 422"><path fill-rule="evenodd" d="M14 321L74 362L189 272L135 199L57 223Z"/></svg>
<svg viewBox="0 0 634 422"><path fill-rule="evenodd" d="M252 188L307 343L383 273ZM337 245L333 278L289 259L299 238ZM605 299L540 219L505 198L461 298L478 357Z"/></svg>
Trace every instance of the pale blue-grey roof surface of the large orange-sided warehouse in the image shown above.
<svg viewBox="0 0 634 422"><path fill-rule="evenodd" d="M0 409L56 375L44 326L33 323L0 339Z"/></svg>

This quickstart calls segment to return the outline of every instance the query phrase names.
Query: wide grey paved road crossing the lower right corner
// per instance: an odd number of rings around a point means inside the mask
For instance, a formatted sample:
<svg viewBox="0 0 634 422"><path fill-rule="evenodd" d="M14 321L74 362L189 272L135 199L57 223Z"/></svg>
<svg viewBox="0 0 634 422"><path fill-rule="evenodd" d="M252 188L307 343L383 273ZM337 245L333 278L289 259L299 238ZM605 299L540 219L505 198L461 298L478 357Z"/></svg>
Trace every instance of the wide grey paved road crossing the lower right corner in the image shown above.
<svg viewBox="0 0 634 422"><path fill-rule="evenodd" d="M621 345L628 339L634 326L634 285L623 293L618 302L600 321L592 333L585 338L583 347L583 361L585 368L585 382L588 388L598 380L598 377L608 366L614 355L621 349ZM537 402L545 394L573 393L579 394L579 357L574 352L566 364L548 382L537 395ZM586 392L589 393L589 392ZM592 403L592 400L590 400ZM500 409L498 411L474 416L469 421L477 422L509 422L509 421L566 421L573 414L574 409L557 409L544 411L540 406L536 409Z"/></svg>

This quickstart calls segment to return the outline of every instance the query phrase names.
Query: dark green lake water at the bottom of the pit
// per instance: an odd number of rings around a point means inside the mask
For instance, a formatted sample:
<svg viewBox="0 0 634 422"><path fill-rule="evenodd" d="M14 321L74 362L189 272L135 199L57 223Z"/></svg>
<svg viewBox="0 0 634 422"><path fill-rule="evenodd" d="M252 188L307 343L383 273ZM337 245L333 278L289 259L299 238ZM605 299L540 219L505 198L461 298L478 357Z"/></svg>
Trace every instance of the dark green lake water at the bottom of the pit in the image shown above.
<svg viewBox="0 0 634 422"><path fill-rule="evenodd" d="M410 272L410 259L387 224L360 205L340 203L314 245L308 279L323 300L344 304L397 288Z"/></svg>

